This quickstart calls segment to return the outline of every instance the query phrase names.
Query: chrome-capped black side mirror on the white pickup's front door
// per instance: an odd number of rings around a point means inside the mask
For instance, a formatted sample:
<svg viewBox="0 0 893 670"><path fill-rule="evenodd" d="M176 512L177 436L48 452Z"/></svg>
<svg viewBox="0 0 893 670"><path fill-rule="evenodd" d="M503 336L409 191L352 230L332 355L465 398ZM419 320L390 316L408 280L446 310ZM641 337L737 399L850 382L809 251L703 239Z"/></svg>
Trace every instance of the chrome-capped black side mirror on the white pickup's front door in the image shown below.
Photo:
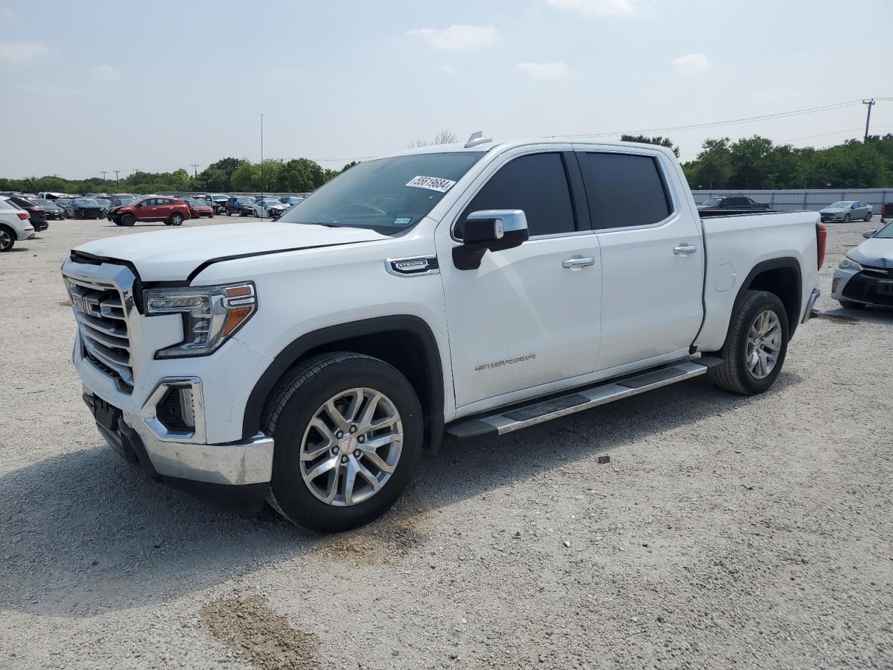
<svg viewBox="0 0 893 670"><path fill-rule="evenodd" d="M482 209L460 223L462 246L453 247L458 270L477 270L488 251L521 246L530 238L527 216L520 209Z"/></svg>

